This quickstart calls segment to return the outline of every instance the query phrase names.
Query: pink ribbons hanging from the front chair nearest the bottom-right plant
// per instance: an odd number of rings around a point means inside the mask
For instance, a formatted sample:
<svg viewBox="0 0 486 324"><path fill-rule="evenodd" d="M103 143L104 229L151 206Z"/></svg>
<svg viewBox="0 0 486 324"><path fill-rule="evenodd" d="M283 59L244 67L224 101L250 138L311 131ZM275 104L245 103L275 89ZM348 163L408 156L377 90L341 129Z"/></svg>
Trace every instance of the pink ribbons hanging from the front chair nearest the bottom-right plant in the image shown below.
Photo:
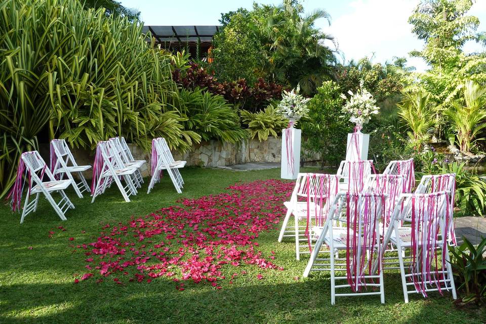
<svg viewBox="0 0 486 324"><path fill-rule="evenodd" d="M444 279L446 269L445 249L442 249L440 263L437 256L441 196L443 196L443 199L447 199L447 224L450 215L448 194L426 194L412 197L411 278L417 292L422 293L424 297L427 297L427 285L435 285L437 291L442 294L440 280ZM418 208L416 208L417 205ZM448 229L442 233L443 244L447 244L447 238Z"/></svg>

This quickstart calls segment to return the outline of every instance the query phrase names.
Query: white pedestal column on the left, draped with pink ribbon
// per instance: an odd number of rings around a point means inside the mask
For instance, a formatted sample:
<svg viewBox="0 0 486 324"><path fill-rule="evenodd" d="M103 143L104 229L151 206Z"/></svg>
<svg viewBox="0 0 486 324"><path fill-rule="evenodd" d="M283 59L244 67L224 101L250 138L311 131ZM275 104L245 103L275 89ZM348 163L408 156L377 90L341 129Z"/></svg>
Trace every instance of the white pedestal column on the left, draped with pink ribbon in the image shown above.
<svg viewBox="0 0 486 324"><path fill-rule="evenodd" d="M302 130L290 128L290 143L292 143L292 153L287 154L287 131L282 130L282 158L281 158L281 171L280 177L282 179L297 179L297 175L300 171L300 139L302 136ZM289 161L287 156L293 158L293 161ZM294 167L292 169L292 166Z"/></svg>

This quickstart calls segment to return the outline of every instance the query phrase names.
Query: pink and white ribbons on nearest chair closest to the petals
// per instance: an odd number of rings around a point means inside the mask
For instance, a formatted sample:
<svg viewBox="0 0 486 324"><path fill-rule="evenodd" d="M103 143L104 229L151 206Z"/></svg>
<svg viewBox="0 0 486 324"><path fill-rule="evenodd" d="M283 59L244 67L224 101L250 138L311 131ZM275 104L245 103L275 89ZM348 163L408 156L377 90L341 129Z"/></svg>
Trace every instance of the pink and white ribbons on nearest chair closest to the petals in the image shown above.
<svg viewBox="0 0 486 324"><path fill-rule="evenodd" d="M361 205L365 204L364 208L358 205L360 198ZM380 255L379 250L375 251L377 219L381 216L378 215L377 209L379 200L383 206L383 194L359 195L349 192L346 194L346 279L353 292L359 292L362 287L366 287L365 275L372 274L374 258L376 255ZM358 249L359 260L357 258ZM380 249L379 245L378 249ZM366 273L366 268L368 268L368 273Z"/></svg>

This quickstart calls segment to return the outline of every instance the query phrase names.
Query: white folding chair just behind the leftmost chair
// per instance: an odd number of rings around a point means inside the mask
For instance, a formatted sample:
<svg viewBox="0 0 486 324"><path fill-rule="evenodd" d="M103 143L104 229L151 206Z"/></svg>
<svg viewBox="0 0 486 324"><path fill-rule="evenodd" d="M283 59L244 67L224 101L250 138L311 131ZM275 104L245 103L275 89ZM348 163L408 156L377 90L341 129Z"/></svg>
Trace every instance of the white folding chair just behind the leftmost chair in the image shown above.
<svg viewBox="0 0 486 324"><path fill-rule="evenodd" d="M54 139L51 141L51 172L54 177L62 179L64 175L72 181L72 187L79 198L83 198L83 192L90 191L90 186L83 175L91 166L78 166L74 156L65 140ZM76 183L72 174L77 174L79 182Z"/></svg>

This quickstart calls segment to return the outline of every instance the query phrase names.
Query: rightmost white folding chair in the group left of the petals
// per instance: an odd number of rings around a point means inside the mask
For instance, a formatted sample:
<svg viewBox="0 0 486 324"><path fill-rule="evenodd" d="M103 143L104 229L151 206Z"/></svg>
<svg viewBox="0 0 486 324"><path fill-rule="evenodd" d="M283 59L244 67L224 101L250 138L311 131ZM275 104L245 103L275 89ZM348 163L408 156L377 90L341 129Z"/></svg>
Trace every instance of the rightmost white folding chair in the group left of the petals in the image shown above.
<svg viewBox="0 0 486 324"><path fill-rule="evenodd" d="M148 185L147 193L150 193L156 182L160 181L160 172L167 170L169 177L178 193L182 193L184 180L179 169L184 168L186 161L175 161L169 145L164 138L154 138L152 140L152 177Z"/></svg>

